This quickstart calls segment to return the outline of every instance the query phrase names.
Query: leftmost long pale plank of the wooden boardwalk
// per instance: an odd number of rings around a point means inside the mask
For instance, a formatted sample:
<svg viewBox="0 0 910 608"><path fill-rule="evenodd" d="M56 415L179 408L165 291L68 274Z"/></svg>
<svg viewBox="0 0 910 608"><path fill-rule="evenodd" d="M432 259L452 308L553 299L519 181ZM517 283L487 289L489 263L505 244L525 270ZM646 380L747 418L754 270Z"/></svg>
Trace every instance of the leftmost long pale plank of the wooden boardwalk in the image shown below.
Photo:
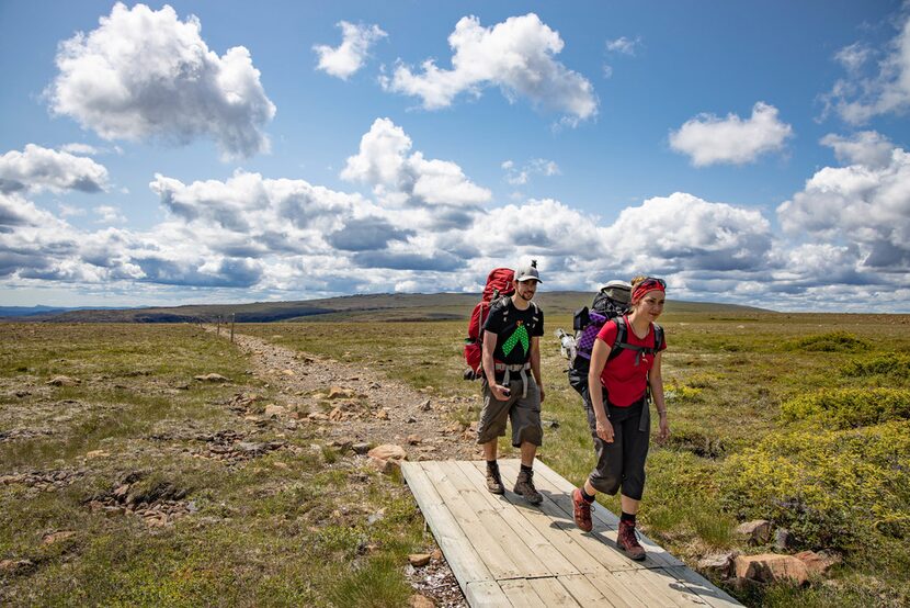
<svg viewBox="0 0 910 608"><path fill-rule="evenodd" d="M414 495L423 518L433 532L433 538L445 555L448 567L458 581L462 592L466 586L478 581L492 581L492 574L484 564L480 555L474 551L467 536L458 525L452 511L443 504L442 497L433 487L423 468L417 462L402 462L401 473L408 487Z"/></svg>

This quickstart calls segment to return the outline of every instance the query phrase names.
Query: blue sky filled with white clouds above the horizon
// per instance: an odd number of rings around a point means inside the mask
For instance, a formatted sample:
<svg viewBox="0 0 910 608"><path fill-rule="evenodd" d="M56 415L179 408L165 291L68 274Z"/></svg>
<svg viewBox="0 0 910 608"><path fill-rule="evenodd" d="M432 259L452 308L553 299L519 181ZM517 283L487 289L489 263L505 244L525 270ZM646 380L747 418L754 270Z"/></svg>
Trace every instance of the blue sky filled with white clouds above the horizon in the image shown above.
<svg viewBox="0 0 910 608"><path fill-rule="evenodd" d="M910 312L910 7L0 2L0 304Z"/></svg>

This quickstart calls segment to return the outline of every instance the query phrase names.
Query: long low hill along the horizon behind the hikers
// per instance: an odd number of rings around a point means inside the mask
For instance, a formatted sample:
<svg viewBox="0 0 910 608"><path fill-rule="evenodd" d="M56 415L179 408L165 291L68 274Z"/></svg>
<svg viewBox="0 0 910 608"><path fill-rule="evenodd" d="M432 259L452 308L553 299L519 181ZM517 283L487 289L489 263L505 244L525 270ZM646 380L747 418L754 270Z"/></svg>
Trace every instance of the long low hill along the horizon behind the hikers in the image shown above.
<svg viewBox="0 0 910 608"><path fill-rule="evenodd" d="M590 305L590 292L543 292L537 303L549 315L569 315ZM371 294L305 300L300 302L254 302L250 304L197 304L148 308L45 311L8 320L45 323L197 323L219 316L237 323L276 320L451 320L467 319L479 294ZM2 311L2 308L0 308ZM713 313L754 315L762 308L707 302L668 301L668 314ZM7 315L13 316L13 315Z"/></svg>

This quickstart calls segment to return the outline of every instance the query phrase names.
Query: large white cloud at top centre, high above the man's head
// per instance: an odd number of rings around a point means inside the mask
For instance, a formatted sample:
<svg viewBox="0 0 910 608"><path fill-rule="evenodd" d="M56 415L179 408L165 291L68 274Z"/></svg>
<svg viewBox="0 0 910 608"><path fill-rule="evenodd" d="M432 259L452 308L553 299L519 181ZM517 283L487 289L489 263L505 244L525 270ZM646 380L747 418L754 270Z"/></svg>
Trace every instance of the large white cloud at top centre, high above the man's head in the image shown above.
<svg viewBox="0 0 910 608"><path fill-rule="evenodd" d="M591 82L557 61L565 45L559 33L528 13L484 27L476 16L462 18L448 36L454 54L452 69L441 69L433 59L414 72L398 65L384 88L420 97L423 108L452 105L467 92L480 97L485 87L499 87L512 101L526 98L542 109L561 112L570 124L596 113L598 100Z"/></svg>

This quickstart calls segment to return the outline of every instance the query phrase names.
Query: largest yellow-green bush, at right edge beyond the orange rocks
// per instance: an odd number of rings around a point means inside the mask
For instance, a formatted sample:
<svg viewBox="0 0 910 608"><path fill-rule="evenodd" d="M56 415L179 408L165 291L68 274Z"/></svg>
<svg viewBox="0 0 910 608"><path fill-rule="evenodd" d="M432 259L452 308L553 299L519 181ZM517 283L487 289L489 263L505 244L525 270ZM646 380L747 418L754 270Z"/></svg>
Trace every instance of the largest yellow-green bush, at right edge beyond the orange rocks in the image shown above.
<svg viewBox="0 0 910 608"><path fill-rule="evenodd" d="M727 509L794 532L799 544L875 551L907 533L910 421L772 432L719 475Z"/></svg>

